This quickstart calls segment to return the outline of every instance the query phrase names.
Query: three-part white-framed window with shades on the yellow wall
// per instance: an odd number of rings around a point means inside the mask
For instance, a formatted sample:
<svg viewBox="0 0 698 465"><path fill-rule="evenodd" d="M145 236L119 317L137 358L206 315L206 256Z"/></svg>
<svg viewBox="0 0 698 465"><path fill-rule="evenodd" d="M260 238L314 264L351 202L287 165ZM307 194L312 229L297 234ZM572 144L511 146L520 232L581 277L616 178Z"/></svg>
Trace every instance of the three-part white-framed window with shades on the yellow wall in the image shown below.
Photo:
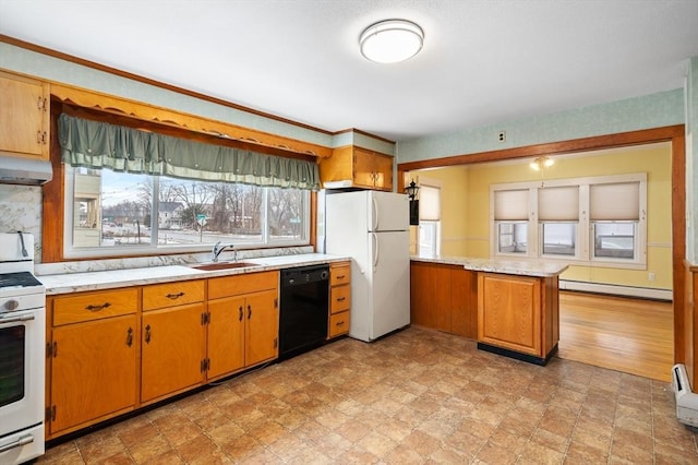
<svg viewBox="0 0 698 465"><path fill-rule="evenodd" d="M647 174L494 184L492 255L641 269Z"/></svg>

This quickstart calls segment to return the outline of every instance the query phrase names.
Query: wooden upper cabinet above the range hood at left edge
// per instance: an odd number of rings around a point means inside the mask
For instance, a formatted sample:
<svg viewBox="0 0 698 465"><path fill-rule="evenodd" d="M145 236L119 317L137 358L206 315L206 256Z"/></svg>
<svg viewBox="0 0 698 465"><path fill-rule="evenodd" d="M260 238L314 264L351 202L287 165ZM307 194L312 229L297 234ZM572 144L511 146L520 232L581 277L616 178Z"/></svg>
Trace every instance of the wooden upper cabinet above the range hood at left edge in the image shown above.
<svg viewBox="0 0 698 465"><path fill-rule="evenodd" d="M0 72L0 152L48 159L49 84Z"/></svg>

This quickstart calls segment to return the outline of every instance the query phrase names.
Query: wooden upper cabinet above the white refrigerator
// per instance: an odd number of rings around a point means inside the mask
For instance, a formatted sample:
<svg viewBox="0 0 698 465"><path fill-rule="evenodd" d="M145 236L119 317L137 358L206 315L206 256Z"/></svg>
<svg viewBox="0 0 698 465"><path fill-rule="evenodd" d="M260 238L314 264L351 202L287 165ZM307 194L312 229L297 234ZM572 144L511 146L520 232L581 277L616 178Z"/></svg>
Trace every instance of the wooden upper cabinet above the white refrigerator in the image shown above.
<svg viewBox="0 0 698 465"><path fill-rule="evenodd" d="M351 187L393 190L393 156L348 145L333 151L320 162L320 179L324 182L351 181Z"/></svg>

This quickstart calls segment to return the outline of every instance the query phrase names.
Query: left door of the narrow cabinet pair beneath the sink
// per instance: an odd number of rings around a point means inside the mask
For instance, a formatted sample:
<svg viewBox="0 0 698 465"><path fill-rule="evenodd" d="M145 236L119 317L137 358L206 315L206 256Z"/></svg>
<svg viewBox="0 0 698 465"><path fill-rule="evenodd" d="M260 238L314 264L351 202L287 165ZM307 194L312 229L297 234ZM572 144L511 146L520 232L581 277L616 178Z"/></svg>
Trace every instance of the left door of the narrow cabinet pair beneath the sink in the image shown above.
<svg viewBox="0 0 698 465"><path fill-rule="evenodd" d="M210 300L208 313L208 379L213 379L244 367L244 298Z"/></svg>

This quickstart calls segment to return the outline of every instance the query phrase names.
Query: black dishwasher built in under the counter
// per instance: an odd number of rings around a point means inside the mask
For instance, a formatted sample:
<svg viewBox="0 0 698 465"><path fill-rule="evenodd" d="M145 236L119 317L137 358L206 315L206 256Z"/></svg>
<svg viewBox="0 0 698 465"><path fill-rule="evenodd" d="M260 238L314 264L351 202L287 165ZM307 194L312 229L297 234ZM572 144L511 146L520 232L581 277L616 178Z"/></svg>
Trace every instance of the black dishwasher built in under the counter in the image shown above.
<svg viewBox="0 0 698 465"><path fill-rule="evenodd" d="M279 358L320 347L327 339L329 266L281 270Z"/></svg>

